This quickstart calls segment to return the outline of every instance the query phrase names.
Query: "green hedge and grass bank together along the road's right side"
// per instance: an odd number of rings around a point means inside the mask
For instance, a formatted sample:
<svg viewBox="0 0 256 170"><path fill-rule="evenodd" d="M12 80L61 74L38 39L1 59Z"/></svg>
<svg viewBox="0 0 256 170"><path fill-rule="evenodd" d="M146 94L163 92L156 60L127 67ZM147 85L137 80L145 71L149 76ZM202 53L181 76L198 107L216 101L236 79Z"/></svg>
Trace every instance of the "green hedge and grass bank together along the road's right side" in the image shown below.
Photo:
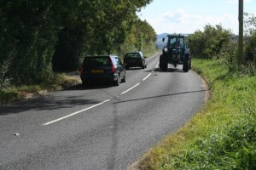
<svg viewBox="0 0 256 170"><path fill-rule="evenodd" d="M250 16L246 24L255 20ZM193 70L207 81L210 98L138 169L256 169L256 32L252 25L247 32L244 65L237 65L236 37L222 26L189 36Z"/></svg>

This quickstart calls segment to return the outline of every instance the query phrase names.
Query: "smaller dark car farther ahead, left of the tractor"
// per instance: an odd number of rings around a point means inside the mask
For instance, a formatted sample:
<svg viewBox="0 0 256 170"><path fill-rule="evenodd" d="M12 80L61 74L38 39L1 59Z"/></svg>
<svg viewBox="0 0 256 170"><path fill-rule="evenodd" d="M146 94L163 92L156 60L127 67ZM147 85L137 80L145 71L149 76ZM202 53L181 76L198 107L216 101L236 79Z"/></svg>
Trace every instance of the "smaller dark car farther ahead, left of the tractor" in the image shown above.
<svg viewBox="0 0 256 170"><path fill-rule="evenodd" d="M125 69L128 70L130 67L142 67L147 68L146 57L143 56L142 52L130 52L125 54L124 65Z"/></svg>

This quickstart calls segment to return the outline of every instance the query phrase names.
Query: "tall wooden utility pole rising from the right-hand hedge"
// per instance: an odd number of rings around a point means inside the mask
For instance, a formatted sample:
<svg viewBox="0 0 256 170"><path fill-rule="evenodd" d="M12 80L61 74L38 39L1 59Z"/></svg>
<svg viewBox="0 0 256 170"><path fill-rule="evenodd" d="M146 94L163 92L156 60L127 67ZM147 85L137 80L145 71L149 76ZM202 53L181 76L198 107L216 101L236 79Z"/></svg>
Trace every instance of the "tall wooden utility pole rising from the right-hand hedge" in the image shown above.
<svg viewBox="0 0 256 170"><path fill-rule="evenodd" d="M237 62L238 65L243 65L243 0L239 0L239 44L238 44L238 56Z"/></svg>

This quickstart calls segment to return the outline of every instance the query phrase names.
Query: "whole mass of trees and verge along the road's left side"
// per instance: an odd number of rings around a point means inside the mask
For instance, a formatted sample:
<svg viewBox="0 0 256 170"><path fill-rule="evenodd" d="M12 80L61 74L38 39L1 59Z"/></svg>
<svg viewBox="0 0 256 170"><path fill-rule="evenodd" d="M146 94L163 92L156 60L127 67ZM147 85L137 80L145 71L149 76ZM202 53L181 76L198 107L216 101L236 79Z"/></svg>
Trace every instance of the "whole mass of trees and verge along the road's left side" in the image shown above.
<svg viewBox="0 0 256 170"><path fill-rule="evenodd" d="M156 51L156 34L137 10L152 0L1 1L0 103L59 87L86 54ZM26 87L26 88L24 88Z"/></svg>

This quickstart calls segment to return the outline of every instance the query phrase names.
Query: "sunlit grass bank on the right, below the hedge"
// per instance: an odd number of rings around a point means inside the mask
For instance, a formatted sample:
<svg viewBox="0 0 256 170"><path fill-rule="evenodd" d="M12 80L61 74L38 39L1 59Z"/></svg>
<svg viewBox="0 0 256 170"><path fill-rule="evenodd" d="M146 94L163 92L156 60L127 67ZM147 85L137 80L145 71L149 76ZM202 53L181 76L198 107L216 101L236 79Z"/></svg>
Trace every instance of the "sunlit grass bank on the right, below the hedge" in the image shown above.
<svg viewBox="0 0 256 170"><path fill-rule="evenodd" d="M177 133L143 156L139 169L256 169L256 77L222 60L193 59L211 98Z"/></svg>

